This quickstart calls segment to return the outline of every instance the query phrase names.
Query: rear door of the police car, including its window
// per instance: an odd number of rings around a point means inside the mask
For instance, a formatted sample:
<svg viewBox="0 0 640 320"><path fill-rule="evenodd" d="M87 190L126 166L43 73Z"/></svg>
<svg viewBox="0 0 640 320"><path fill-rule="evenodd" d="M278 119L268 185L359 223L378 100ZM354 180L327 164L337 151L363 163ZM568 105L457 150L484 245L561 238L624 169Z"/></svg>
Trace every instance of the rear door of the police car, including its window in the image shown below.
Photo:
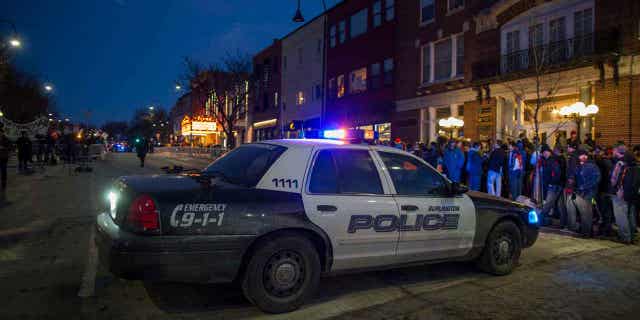
<svg viewBox="0 0 640 320"><path fill-rule="evenodd" d="M331 239L332 270L385 265L396 258L398 233L390 228L398 208L376 163L367 146L315 151L304 207Z"/></svg>

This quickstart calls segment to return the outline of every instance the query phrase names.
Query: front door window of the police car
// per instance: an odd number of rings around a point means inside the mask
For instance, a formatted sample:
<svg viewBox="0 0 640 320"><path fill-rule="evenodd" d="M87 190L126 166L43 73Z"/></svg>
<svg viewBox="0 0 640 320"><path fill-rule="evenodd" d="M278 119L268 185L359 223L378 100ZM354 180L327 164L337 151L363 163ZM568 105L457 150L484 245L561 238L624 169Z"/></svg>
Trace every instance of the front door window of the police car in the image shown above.
<svg viewBox="0 0 640 320"><path fill-rule="evenodd" d="M399 195L442 195L445 180L422 162L397 153L379 152Z"/></svg>

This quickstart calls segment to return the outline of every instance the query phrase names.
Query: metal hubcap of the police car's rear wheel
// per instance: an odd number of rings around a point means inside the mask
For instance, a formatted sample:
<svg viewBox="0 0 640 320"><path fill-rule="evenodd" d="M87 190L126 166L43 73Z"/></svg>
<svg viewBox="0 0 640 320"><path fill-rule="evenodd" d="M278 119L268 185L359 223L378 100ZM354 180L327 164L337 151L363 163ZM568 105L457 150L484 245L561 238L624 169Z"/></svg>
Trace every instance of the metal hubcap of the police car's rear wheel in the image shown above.
<svg viewBox="0 0 640 320"><path fill-rule="evenodd" d="M264 269L264 287L276 297L288 297L295 294L304 281L304 263L300 254L294 251L281 251L274 254Z"/></svg>

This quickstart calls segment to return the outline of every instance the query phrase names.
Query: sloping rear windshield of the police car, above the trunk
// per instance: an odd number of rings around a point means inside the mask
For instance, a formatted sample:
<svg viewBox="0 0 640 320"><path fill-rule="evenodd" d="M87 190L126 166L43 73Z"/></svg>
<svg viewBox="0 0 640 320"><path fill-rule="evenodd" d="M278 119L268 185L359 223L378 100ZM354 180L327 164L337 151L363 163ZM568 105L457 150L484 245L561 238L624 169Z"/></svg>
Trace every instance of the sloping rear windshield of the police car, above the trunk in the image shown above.
<svg viewBox="0 0 640 320"><path fill-rule="evenodd" d="M205 175L244 187L255 187L269 167L287 148L266 143L240 146L204 169Z"/></svg>

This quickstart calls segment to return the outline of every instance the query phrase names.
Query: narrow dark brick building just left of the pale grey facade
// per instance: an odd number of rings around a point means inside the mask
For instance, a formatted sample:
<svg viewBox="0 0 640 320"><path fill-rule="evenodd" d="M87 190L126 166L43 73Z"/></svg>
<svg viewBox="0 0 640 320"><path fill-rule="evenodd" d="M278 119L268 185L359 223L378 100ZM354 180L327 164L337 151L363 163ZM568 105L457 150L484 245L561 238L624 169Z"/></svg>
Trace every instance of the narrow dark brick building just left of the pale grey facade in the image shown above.
<svg viewBox="0 0 640 320"><path fill-rule="evenodd" d="M249 141L281 137L281 59L282 43L279 39L253 57L255 87L249 103Z"/></svg>

